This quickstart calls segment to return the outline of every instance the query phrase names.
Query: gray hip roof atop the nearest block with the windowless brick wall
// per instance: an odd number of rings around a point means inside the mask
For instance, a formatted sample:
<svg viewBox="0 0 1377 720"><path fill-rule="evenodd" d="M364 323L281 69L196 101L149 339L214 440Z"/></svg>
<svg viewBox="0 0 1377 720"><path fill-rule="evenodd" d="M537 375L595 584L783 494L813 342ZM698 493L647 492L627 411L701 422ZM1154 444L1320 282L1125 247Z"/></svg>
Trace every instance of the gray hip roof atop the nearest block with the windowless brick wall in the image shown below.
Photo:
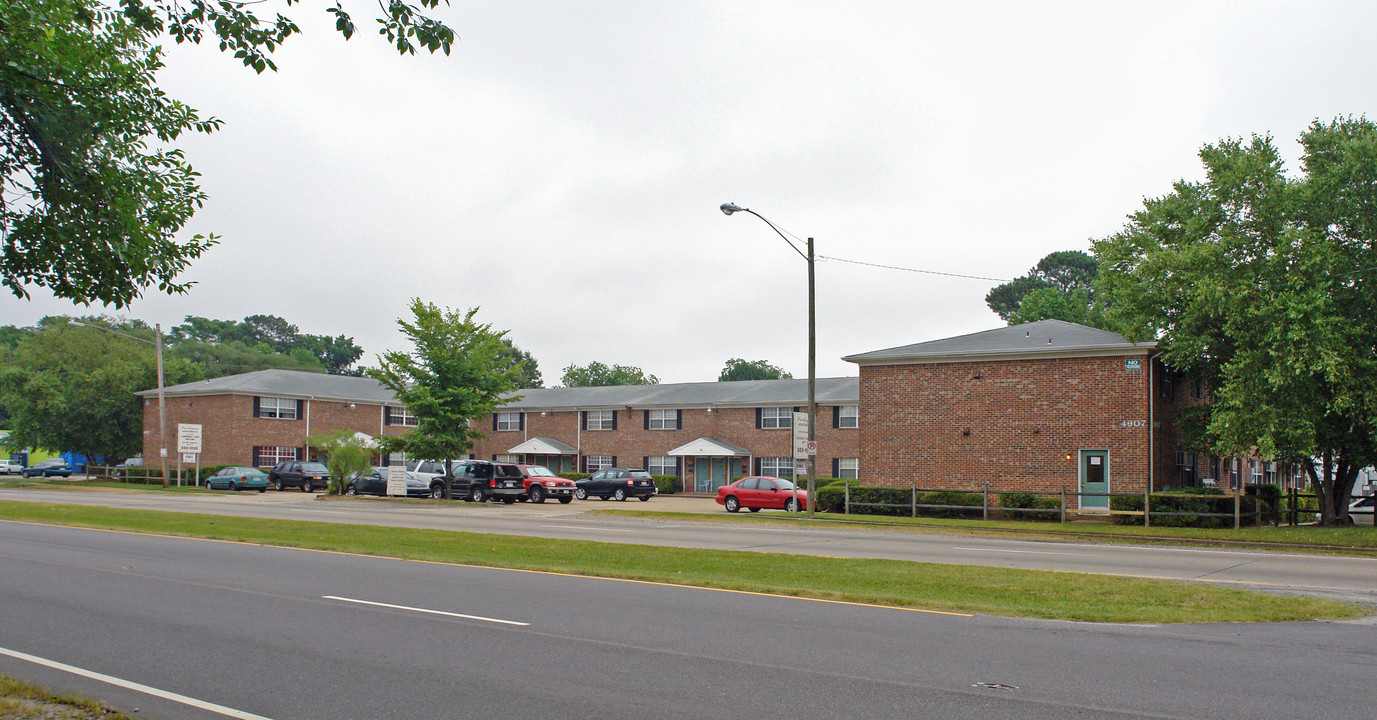
<svg viewBox="0 0 1377 720"><path fill-rule="evenodd" d="M1042 319L979 333L943 337L927 343L891 347L841 358L856 365L901 362L961 362L1015 357L1075 357L1103 354L1148 354L1157 343L1129 343L1122 335L1064 322Z"/></svg>

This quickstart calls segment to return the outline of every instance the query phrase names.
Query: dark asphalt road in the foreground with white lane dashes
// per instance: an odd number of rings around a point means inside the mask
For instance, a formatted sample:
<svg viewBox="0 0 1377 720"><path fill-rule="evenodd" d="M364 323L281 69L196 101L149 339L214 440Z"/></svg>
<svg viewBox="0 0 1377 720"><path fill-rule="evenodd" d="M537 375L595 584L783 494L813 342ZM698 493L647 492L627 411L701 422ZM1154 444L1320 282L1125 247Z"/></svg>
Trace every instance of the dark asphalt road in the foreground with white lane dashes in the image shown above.
<svg viewBox="0 0 1377 720"><path fill-rule="evenodd" d="M1348 719L1374 647L0 522L0 672L149 719Z"/></svg>

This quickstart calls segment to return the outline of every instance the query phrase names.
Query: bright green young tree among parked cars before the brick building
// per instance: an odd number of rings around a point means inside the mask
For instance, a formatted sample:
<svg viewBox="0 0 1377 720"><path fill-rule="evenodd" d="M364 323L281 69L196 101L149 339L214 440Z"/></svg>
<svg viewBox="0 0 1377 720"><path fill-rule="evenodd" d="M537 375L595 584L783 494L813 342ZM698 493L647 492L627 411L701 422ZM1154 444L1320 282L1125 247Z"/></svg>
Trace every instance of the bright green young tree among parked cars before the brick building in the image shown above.
<svg viewBox="0 0 1377 720"><path fill-rule="evenodd" d="M478 308L460 314L412 300L410 322L398 319L413 350L387 351L380 366L368 374L386 385L416 427L402 435L380 435L383 452L445 461L445 497L449 497L450 460L467 454L482 436L481 423L498 403L519 399L519 368L504 355L505 332L474 321Z"/></svg>

